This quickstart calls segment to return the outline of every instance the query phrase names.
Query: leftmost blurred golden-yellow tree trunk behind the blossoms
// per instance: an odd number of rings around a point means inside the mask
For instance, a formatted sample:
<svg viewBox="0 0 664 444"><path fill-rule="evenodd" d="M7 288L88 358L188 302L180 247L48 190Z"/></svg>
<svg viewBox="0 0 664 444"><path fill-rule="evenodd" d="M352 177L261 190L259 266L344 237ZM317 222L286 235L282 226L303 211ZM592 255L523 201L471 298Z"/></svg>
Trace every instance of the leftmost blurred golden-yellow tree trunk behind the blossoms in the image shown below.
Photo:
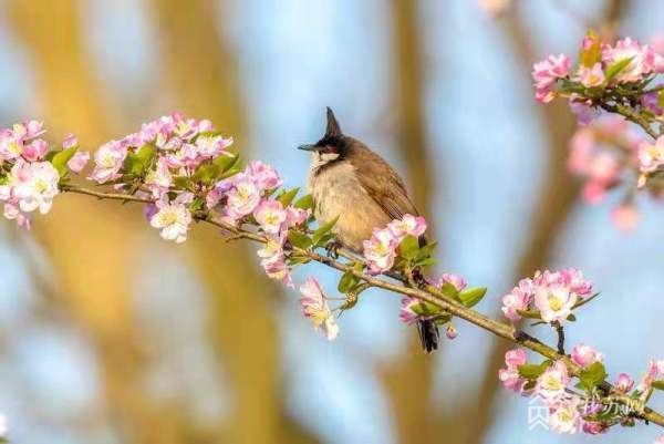
<svg viewBox="0 0 664 444"><path fill-rule="evenodd" d="M77 2L58 0L46 8L15 0L10 13L13 32L33 59L35 95L50 137L61 140L75 131L82 146L97 146L108 134L108 116L82 47ZM151 403L142 392L144 360L128 288L136 229L132 220L139 219L138 213L59 197L34 231L61 286L55 291L60 308L89 332L96 348L108 421L120 426L125 442L181 443L181 410Z"/></svg>

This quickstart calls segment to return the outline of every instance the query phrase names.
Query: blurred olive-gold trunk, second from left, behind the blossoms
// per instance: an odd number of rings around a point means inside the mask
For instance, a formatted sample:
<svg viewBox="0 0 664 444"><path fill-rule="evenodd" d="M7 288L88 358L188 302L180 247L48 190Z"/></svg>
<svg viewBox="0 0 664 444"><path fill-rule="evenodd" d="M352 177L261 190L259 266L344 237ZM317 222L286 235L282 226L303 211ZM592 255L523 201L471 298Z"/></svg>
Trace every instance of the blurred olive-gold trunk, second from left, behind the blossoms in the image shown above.
<svg viewBox="0 0 664 444"><path fill-rule="evenodd" d="M210 118L235 137L248 158L238 63L219 32L218 3L153 0L153 6L172 104L187 115ZM227 385L232 388L235 403L226 424L226 442L315 442L284 410L273 307L279 301L279 288L258 270L247 245L224 244L218 230L203 228L198 227L187 244L196 269L208 285L210 334L230 379Z"/></svg>

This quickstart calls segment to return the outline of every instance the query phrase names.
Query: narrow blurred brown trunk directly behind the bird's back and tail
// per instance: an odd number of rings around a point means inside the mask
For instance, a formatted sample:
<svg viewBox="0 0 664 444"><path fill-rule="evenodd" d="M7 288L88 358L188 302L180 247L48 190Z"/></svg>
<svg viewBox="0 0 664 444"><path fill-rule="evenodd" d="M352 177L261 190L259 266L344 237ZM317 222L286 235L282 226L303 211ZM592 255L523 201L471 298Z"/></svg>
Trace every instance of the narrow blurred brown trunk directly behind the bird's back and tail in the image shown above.
<svg viewBox="0 0 664 444"><path fill-rule="evenodd" d="M423 112L424 74L418 34L418 2L392 0L392 33L396 50L394 75L400 154L405 159L406 183L417 205L425 215L430 200L432 176L427 163L425 137L426 118ZM429 225L432 219L427 218ZM444 344L442 343L442 347ZM422 444L434 442L432 371L435 354L422 351L413 330L398 361L386 363L383 376L400 443Z"/></svg>

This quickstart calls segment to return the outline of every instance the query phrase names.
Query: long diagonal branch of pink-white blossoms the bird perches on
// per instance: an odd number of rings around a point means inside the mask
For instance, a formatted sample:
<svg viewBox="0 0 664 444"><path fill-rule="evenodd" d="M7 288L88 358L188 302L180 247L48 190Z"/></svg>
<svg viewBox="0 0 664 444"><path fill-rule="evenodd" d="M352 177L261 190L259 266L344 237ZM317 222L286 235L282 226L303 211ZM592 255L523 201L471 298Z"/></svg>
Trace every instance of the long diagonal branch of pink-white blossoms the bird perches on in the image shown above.
<svg viewBox="0 0 664 444"><path fill-rule="evenodd" d="M575 320L573 311L596 297L580 270L537 272L502 298L502 311L511 321L526 317L554 327L559 341L552 348L513 324L474 310L486 288L466 288L465 279L448 273L425 278L422 269L434 262L436 244L419 246L426 231L422 217L404 215L386 227L376 227L364 241L361 256L330 248L336 220L312 227L312 197L298 198L298 188L282 189L281 177L268 165L252 162L242 167L239 156L228 149L232 141L215 132L207 121L174 114L100 147L89 178L98 185L112 184L115 192L72 184L70 175L81 173L90 154L79 152L71 137L61 149L51 148L39 138L42 133L37 122L0 132L0 200L4 202L4 216L19 225L29 226L35 210L46 214L61 193L143 204L149 224L164 239L175 242L187 239L191 221L207 223L220 228L227 240L259 244L266 273L287 286L294 287L291 271L307 262L340 271L338 290L345 298L328 298L311 277L300 287L304 316L329 340L340 330L333 313L352 309L366 289L381 288L402 297L400 319L406 323L427 320L445 326L447 338L454 339L456 317L543 357L543 362L533 364L526 362L522 349L510 351L499 378L510 389L523 394L535 391L542 397L559 431L582 426L588 433L600 433L635 419L664 426L664 416L645 405L653 389L664 388L660 380L664 361L653 361L630 394L632 388L624 381L616 386L606 382L601 353L579 344L566 355L563 322ZM319 252L323 249L328 254ZM334 301L342 303L332 309L330 302ZM584 390L582 396L570 392L572 378ZM598 405L616 402L626 411L600 415L593 407L590 412L595 394Z"/></svg>

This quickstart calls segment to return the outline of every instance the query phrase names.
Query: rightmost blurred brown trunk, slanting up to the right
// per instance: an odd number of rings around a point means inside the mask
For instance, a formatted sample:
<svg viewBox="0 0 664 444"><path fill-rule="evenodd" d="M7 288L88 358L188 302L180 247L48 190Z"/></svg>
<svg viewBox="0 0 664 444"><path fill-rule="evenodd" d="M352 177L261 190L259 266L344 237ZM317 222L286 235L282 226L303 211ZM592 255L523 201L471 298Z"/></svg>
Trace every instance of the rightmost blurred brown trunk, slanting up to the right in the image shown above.
<svg viewBox="0 0 664 444"><path fill-rule="evenodd" d="M629 8L629 1L610 0L603 13L604 39L611 40ZM530 47L531 38L520 19L518 6L513 4L505 17L504 29L513 51L519 55L523 72L530 72L536 55ZM528 86L530 83L528 82ZM549 154L546 163L546 178L540 196L535 200L531 215L530 238L521 255L513 281L531 276L546 268L551 260L556 241L578 202L579 186L567 169L568 145L577 127L575 118L564 101L554 101L547 106L538 106L542 112L546 145ZM504 364L505 352L513 344L495 342L487 360L486 373L478 385L475 402L459 406L448 417L440 421L439 430L449 436L450 442L480 444L495 421L494 410L497 391L501 388L497 371Z"/></svg>

